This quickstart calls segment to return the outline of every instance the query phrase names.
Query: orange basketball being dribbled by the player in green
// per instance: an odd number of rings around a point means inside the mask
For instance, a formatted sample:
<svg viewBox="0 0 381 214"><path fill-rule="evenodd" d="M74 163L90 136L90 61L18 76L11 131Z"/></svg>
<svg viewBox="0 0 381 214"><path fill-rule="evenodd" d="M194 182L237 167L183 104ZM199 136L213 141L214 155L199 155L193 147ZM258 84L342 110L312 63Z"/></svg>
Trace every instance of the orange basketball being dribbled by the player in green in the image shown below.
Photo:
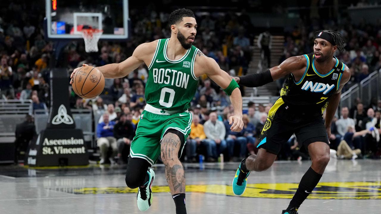
<svg viewBox="0 0 381 214"><path fill-rule="evenodd" d="M103 74L92 66L83 66L73 77L73 91L80 97L91 99L104 89Z"/></svg>

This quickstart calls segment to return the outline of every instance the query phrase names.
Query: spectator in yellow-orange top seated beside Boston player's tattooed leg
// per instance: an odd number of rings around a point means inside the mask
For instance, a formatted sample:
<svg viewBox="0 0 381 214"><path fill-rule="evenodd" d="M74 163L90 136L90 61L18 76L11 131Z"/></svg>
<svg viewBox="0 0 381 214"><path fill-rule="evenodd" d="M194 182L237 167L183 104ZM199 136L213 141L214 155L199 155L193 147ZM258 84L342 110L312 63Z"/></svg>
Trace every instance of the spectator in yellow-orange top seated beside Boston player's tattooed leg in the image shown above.
<svg viewBox="0 0 381 214"><path fill-rule="evenodd" d="M186 153L189 163L196 162L196 149L207 138L204 133L204 126L200 124L200 118L197 115L192 116L191 134L187 139Z"/></svg>

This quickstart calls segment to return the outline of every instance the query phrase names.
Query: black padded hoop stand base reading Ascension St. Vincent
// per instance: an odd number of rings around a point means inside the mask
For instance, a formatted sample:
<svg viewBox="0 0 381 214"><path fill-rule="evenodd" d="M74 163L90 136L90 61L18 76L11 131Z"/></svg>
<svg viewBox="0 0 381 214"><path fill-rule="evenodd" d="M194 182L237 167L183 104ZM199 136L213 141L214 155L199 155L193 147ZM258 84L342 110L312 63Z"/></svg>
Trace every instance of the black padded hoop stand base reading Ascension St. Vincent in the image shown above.
<svg viewBox="0 0 381 214"><path fill-rule="evenodd" d="M70 112L68 77L65 69L50 72L51 106L46 129L30 142L29 166L87 165L88 153L81 129L75 129Z"/></svg>

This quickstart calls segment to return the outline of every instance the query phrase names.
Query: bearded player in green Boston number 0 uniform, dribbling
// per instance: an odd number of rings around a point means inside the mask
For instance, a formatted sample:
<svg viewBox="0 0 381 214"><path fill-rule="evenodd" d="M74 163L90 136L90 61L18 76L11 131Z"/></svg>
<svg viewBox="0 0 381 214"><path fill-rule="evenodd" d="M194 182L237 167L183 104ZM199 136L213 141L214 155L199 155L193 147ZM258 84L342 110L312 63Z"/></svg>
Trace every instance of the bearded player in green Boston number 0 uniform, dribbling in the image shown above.
<svg viewBox="0 0 381 214"><path fill-rule="evenodd" d="M234 107L234 116L229 118L232 131L243 128L242 97L237 82L221 70L214 59L192 45L197 28L193 12L184 8L175 10L170 14L169 23L171 38L143 43L125 61L98 69L105 78L121 78L142 63L148 66L147 105L131 144L126 184L130 188L139 187L138 208L146 211L152 203L151 185L155 176L149 167L161 155L176 214L185 214L185 176L178 158L191 132L192 115L187 109L199 77L207 74L230 96Z"/></svg>

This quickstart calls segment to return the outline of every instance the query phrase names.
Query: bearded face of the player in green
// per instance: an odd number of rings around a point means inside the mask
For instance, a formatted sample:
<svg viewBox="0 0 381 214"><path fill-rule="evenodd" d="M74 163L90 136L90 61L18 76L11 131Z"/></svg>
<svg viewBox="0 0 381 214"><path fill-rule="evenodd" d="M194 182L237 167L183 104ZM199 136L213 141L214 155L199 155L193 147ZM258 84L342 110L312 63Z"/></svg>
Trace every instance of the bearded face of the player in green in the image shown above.
<svg viewBox="0 0 381 214"><path fill-rule="evenodd" d="M177 39L181 43L184 49L189 49L192 47L196 33L197 33L197 22L193 17L184 17L182 22L176 24L177 27Z"/></svg>

